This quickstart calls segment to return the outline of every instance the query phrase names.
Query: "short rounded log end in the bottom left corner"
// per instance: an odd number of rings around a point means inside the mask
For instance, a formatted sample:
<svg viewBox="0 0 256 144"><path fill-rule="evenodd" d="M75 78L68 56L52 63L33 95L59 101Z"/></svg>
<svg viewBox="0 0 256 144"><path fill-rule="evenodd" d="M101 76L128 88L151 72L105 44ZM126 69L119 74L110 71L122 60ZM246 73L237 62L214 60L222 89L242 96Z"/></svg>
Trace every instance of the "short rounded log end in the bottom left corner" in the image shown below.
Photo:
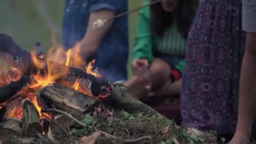
<svg viewBox="0 0 256 144"><path fill-rule="evenodd" d="M16 118L8 118L0 128L0 136L23 136L24 132L21 128L21 120Z"/></svg>

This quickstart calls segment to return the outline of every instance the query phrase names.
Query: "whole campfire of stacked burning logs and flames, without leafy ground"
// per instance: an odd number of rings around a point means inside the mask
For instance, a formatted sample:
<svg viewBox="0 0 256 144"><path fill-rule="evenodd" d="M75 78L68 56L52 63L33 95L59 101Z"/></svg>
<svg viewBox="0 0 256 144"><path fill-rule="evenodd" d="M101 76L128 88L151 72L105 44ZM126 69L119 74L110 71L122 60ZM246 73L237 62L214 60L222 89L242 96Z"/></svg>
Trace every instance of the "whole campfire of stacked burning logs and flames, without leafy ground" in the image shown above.
<svg viewBox="0 0 256 144"><path fill-rule="evenodd" d="M42 55L37 57L34 51L28 53L8 35L1 34L0 38L0 56L13 67L0 77L0 109L5 108L1 136L47 133L48 119L54 115L42 109L58 107L82 115L98 107L101 98L109 96L111 85L93 70L95 60L78 69L69 66L82 63L77 56L71 61L71 49L67 51L65 64L59 64ZM48 54L51 53L52 49Z"/></svg>

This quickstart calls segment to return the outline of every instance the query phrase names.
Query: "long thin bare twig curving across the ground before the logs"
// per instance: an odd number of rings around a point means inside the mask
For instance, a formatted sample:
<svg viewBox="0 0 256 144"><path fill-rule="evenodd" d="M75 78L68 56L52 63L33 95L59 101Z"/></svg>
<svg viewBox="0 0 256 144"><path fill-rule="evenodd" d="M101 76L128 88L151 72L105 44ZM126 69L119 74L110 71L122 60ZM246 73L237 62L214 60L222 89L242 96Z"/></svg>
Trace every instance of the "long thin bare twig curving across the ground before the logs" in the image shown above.
<svg viewBox="0 0 256 144"><path fill-rule="evenodd" d="M56 108L52 108L52 109L42 109L41 112L57 112L57 113L61 113L67 117L69 117L70 119L74 120L75 122L77 122L77 124L83 126L83 127L89 127L89 128L92 128L91 126L89 125L85 125L83 123L81 123L79 120L77 120L75 117L73 117L71 114L67 113L67 112L64 112L64 111L61 111L59 109L56 109ZM141 136L139 137L138 139L120 139L116 136L113 136L109 133L106 133L104 131L100 131L98 130L97 128L95 128L95 130L99 131L101 134L104 134L105 136L109 136L110 138L112 139L117 139L117 140L121 140L123 141L123 143L136 143L136 142L139 142L139 141L144 141L144 140L150 140L152 139L151 136Z"/></svg>

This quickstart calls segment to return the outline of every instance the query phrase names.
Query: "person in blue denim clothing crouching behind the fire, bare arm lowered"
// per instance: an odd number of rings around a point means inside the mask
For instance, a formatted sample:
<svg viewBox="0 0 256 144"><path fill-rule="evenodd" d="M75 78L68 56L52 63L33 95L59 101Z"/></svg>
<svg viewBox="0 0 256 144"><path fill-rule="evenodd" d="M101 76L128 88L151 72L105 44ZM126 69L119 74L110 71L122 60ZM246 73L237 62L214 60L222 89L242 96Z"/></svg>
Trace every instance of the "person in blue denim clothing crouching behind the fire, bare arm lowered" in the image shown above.
<svg viewBox="0 0 256 144"><path fill-rule="evenodd" d="M121 16L93 29L97 19L109 19L128 11L127 0L65 0L62 24L64 50L80 43L80 56L95 59L96 68L111 83L127 79L128 16Z"/></svg>

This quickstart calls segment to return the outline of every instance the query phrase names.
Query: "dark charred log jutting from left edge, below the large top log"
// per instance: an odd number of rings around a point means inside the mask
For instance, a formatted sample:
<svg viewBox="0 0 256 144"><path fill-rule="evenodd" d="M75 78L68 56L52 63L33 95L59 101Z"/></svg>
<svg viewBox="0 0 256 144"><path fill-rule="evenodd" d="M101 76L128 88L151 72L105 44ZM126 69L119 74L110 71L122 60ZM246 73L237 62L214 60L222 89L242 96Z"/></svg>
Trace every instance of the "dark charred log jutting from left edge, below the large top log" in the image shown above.
<svg viewBox="0 0 256 144"><path fill-rule="evenodd" d="M0 103L3 103L10 99L19 91L23 91L32 83L34 79L32 77L24 76L15 82L11 82L0 88Z"/></svg>

